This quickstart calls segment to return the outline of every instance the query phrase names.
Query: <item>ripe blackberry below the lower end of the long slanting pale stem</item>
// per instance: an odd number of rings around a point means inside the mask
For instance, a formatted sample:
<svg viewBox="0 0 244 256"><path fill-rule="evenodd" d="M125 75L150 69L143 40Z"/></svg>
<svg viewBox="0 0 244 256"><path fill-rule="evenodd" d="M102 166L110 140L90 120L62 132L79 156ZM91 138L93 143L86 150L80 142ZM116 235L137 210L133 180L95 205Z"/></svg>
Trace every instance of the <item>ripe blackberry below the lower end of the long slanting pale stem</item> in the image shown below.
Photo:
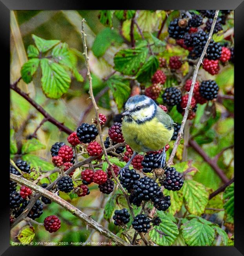
<svg viewBox="0 0 244 256"><path fill-rule="evenodd" d="M180 190L183 186L183 174L175 170L174 167L166 167L164 175L166 179L163 182L163 186L172 191Z"/></svg>

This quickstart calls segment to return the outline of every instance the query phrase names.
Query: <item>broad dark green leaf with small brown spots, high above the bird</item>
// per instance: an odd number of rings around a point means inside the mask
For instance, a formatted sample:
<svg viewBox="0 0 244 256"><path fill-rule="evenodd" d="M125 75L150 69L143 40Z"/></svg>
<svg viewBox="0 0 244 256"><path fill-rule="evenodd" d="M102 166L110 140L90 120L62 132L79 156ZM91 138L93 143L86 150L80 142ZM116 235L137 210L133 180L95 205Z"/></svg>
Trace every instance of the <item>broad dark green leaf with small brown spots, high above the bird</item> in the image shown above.
<svg viewBox="0 0 244 256"><path fill-rule="evenodd" d="M120 50L115 54L114 69L125 75L135 76L146 61L148 48Z"/></svg>

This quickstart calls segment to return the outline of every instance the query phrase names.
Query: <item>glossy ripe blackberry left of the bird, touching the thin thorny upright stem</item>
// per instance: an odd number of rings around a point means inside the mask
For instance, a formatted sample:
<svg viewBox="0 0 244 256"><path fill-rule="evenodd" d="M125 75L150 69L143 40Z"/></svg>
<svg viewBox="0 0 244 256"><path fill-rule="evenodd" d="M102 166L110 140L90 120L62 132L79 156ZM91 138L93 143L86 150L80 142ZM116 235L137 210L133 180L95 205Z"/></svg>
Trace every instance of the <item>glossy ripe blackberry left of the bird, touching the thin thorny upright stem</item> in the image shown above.
<svg viewBox="0 0 244 256"><path fill-rule="evenodd" d="M89 143L96 139L98 130L94 124L82 123L82 125L77 128L76 135L80 142Z"/></svg>

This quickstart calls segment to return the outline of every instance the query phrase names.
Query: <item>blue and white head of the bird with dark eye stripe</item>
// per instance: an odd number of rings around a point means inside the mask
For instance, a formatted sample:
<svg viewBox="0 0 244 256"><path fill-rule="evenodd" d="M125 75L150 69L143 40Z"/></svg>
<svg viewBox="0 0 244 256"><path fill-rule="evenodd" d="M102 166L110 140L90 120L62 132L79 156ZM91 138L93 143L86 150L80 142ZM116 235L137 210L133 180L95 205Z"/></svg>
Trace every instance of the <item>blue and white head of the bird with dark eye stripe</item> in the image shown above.
<svg viewBox="0 0 244 256"><path fill-rule="evenodd" d="M130 97L125 105L125 112L122 113L126 122L135 121L138 124L151 120L156 114L157 105L145 95Z"/></svg>

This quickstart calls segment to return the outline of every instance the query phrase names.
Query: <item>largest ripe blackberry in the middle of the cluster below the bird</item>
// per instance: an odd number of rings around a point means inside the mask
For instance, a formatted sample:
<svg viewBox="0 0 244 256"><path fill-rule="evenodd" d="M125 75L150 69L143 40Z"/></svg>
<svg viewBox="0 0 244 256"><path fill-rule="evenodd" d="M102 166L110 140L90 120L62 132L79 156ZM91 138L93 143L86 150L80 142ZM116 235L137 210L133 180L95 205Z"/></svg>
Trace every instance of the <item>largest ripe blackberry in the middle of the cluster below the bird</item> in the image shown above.
<svg viewBox="0 0 244 256"><path fill-rule="evenodd" d="M133 193L138 200L148 201L153 197L160 195L160 187L155 180L145 176L135 182Z"/></svg>

